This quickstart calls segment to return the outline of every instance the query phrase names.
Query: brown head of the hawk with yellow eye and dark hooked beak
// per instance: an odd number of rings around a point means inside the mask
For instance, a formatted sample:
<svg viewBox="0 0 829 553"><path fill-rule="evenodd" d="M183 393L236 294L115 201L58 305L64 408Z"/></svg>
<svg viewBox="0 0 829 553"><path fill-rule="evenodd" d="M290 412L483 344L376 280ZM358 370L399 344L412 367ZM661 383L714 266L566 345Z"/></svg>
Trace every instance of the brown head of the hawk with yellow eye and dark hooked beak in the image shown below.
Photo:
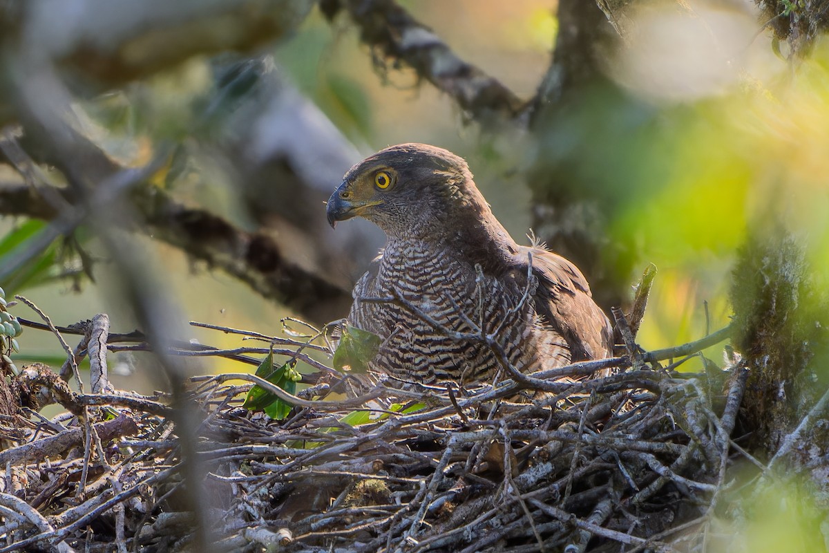
<svg viewBox="0 0 829 553"><path fill-rule="evenodd" d="M327 202L328 222L361 216L389 236L419 236L450 219L489 211L463 158L427 144L399 144L346 173Z"/></svg>

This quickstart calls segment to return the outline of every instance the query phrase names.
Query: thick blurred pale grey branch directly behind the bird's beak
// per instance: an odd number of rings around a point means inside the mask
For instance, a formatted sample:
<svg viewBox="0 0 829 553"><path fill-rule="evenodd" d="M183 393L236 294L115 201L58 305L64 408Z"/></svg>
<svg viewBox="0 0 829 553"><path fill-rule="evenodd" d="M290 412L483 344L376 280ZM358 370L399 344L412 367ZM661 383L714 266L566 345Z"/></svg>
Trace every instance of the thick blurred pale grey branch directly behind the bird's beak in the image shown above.
<svg viewBox="0 0 829 553"><path fill-rule="evenodd" d="M221 157L245 211L275 230L285 257L350 289L385 236L368 221L332 231L324 202L363 156L279 71L267 68L267 58L243 64L259 67L256 90L217 125L221 139L200 139L200 148Z"/></svg>

